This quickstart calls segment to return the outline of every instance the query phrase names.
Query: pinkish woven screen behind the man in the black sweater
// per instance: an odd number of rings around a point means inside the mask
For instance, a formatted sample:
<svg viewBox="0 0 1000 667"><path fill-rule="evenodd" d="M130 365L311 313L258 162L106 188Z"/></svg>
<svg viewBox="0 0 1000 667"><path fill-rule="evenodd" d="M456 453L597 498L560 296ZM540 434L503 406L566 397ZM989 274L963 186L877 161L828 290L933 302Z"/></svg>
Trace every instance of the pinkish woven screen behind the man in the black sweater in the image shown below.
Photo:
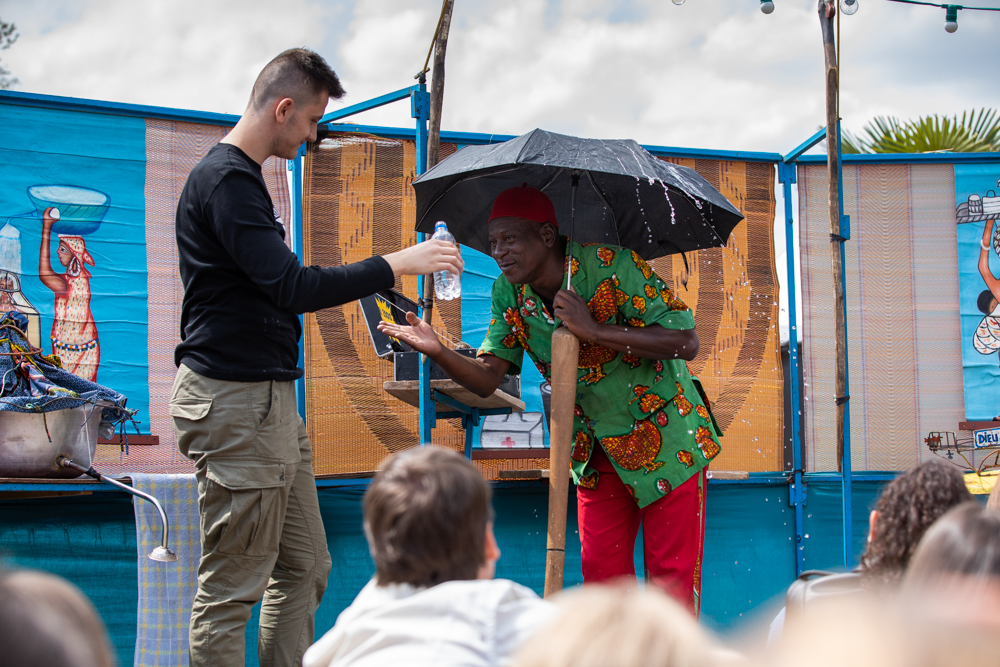
<svg viewBox="0 0 1000 667"><path fill-rule="evenodd" d="M146 284L149 294L149 412L147 421L158 445L132 446L122 457L117 445L98 448L97 463L108 473L193 472L194 465L177 451L173 422L168 412L170 390L177 368L174 347L180 342L181 302L184 288L177 264L174 216L188 174L222 139L229 128L200 123L146 119ZM262 167L271 199L285 222L290 242L291 198L286 162L269 158Z"/></svg>

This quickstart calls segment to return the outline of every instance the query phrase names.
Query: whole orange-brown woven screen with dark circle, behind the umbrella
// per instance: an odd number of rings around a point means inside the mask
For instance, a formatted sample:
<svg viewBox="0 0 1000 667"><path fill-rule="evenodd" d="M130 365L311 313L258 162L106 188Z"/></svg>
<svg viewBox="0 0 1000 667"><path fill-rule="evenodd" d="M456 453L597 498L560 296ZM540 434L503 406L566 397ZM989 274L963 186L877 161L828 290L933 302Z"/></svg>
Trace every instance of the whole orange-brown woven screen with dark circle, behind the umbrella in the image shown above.
<svg viewBox="0 0 1000 667"><path fill-rule="evenodd" d="M442 144L442 157L455 151ZM654 262L695 309L701 352L691 368L705 383L726 429L716 470L782 468L782 375L774 271L774 167L678 160L718 187L747 216L725 248L688 256L687 289L678 257ZM412 141L338 135L311 150L303 185L304 261L355 262L415 242ZM415 299L416 278L397 289ZM458 301L440 304L434 324L461 337ZM479 341L469 341L477 344ZM390 453L416 446L417 409L382 390L392 364L375 356L357 303L305 317L306 420L316 473L377 469ZM461 449L457 422L439 421L435 444ZM546 459L478 461L488 478L500 469L547 468Z"/></svg>

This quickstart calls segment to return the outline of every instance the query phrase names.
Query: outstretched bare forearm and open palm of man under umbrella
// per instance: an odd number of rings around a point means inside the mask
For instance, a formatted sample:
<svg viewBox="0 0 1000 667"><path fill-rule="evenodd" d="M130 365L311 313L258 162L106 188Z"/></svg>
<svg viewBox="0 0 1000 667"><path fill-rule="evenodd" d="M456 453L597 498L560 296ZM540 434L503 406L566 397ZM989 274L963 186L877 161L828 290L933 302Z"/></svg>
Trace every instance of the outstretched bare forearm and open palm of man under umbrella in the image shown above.
<svg viewBox="0 0 1000 667"><path fill-rule="evenodd" d="M441 367L445 374L469 391L486 398L503 381L510 362L491 354L478 359L463 357L441 344L429 324L413 313L406 314L409 326L379 322L378 330L398 338L417 352L423 352Z"/></svg>

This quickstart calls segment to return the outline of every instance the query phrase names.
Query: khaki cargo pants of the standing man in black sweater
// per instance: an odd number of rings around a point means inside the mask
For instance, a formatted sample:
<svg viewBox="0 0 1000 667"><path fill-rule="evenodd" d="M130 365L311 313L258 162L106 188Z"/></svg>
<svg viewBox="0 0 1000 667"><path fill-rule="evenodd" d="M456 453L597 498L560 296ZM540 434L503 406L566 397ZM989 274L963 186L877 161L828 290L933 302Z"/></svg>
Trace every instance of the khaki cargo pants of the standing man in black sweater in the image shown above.
<svg viewBox="0 0 1000 667"><path fill-rule="evenodd" d="M261 666L301 665L330 554L295 383L213 380L182 364L170 415L195 462L201 515L190 664L242 667L250 610L263 598Z"/></svg>

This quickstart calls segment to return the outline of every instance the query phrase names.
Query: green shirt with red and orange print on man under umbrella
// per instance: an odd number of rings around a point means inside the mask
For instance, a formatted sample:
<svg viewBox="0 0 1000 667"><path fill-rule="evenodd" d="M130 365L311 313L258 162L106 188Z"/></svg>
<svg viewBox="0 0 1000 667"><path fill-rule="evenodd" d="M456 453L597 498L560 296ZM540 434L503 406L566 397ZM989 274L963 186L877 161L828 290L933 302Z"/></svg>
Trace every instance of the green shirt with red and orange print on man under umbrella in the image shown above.
<svg viewBox="0 0 1000 667"><path fill-rule="evenodd" d="M573 244L573 289L598 322L693 329L694 315L636 253L617 246ZM493 283L493 312L479 354L511 362L524 353L550 378L553 318L530 285ZM700 383L682 359L655 361L580 341L573 480L593 488L596 443L640 507L669 493L718 456L722 435Z"/></svg>

